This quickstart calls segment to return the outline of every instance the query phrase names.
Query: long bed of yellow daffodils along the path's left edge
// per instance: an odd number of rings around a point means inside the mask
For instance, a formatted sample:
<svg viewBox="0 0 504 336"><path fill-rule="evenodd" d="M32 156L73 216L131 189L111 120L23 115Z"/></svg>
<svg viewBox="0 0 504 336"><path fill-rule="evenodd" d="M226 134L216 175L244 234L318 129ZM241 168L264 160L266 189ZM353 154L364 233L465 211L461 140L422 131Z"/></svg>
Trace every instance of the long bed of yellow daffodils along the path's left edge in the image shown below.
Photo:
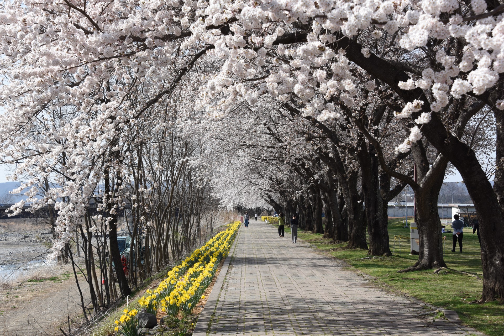
<svg viewBox="0 0 504 336"><path fill-rule="evenodd" d="M212 282L219 262L229 253L240 224L239 221L228 224L225 231L219 232L180 265L173 267L156 289L146 291L147 296L138 300L139 305L154 315L159 308L171 316L177 315L180 309L184 314L190 314L200 299L205 298L203 293ZM118 331L120 326L124 336L139 336L133 327L138 327L137 313L135 309L125 309L115 321L115 330Z"/></svg>

